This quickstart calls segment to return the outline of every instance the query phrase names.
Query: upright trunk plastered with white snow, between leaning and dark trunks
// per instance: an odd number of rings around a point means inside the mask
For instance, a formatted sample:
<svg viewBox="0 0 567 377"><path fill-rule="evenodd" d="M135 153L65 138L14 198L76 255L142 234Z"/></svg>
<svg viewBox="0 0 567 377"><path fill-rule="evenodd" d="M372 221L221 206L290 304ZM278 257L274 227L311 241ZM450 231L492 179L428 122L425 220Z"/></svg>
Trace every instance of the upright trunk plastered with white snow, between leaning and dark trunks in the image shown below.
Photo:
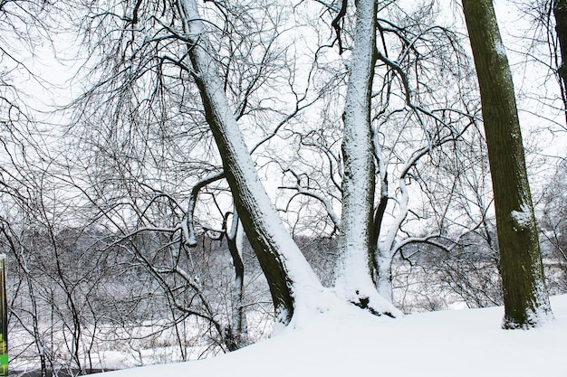
<svg viewBox="0 0 567 377"><path fill-rule="evenodd" d="M355 4L356 30L342 115L342 215L335 289L356 306L394 316L398 311L380 297L372 281L375 166L370 99L376 61L377 2L357 0Z"/></svg>

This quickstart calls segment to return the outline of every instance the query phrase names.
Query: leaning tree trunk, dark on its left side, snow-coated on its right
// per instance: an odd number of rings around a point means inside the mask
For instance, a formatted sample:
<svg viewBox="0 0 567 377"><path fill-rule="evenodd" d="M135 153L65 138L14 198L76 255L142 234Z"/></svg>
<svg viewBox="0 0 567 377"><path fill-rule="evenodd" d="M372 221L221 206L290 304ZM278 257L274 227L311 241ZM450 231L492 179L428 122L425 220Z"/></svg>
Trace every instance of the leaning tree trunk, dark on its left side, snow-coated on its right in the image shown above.
<svg viewBox="0 0 567 377"><path fill-rule="evenodd" d="M320 292L322 285L283 226L255 171L226 99L216 61L211 57L214 49L208 42L196 1L182 1L181 14L187 31L193 76L203 100L207 123L222 157L236 210L270 287L276 320L287 325L294 309L309 306L306 301L312 298L310 293Z"/></svg>

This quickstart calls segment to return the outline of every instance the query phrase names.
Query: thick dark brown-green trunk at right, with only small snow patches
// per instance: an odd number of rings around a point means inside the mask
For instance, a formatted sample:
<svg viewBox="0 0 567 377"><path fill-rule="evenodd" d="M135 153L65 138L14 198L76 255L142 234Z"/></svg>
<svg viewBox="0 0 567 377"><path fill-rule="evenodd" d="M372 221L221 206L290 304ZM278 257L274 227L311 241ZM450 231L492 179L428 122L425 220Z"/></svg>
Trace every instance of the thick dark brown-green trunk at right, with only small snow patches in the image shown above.
<svg viewBox="0 0 567 377"><path fill-rule="evenodd" d="M492 0L463 0L480 86L495 193L505 301L504 328L528 328L552 316L525 170L514 84Z"/></svg>

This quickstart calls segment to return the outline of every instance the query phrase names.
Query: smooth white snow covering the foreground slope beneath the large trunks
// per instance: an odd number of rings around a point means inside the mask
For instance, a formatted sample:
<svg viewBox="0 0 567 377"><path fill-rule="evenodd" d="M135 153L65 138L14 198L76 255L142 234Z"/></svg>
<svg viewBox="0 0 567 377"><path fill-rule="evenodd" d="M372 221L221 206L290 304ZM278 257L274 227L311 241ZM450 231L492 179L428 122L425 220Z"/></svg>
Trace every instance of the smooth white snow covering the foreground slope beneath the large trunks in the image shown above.
<svg viewBox="0 0 567 377"><path fill-rule="evenodd" d="M398 319L339 308L235 353L101 376L565 377L567 296L552 306L555 320L529 331L501 330L502 307Z"/></svg>

